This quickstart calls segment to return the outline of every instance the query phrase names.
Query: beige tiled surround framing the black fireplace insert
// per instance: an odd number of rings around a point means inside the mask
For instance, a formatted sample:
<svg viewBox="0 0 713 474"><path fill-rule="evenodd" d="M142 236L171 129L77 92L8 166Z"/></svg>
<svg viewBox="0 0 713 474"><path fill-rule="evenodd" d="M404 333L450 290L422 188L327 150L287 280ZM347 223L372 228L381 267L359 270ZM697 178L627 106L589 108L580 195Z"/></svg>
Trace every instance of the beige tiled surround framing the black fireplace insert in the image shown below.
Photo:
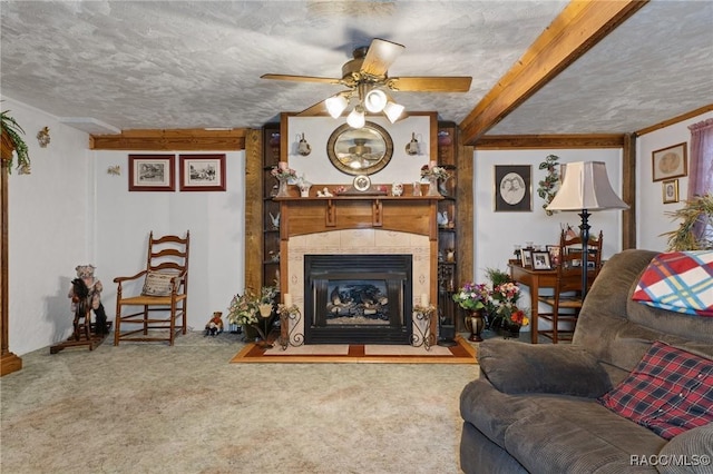
<svg viewBox="0 0 713 474"><path fill-rule="evenodd" d="M287 241L287 292L304 314L305 255L411 255L413 305L420 295L430 295L431 245L428 236L382 229L345 229L291 237ZM413 323L416 324L416 322ZM304 318L295 334L304 334Z"/></svg>

